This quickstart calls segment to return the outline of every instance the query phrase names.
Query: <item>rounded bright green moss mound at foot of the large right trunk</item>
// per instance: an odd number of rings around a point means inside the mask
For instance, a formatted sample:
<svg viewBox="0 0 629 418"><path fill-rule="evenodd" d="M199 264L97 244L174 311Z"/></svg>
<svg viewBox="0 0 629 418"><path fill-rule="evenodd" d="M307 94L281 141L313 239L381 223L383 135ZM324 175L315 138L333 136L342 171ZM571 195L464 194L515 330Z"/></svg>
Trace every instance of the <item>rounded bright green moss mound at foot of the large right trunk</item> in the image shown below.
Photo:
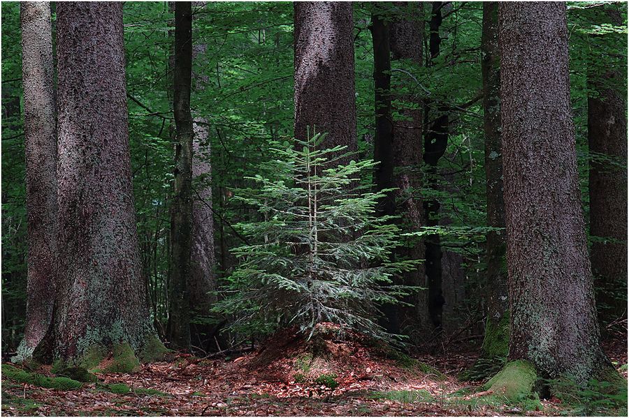
<svg viewBox="0 0 629 418"><path fill-rule="evenodd" d="M509 401L521 401L530 396L537 382L535 366L528 361L516 360L505 365L484 385L494 396L505 396Z"/></svg>

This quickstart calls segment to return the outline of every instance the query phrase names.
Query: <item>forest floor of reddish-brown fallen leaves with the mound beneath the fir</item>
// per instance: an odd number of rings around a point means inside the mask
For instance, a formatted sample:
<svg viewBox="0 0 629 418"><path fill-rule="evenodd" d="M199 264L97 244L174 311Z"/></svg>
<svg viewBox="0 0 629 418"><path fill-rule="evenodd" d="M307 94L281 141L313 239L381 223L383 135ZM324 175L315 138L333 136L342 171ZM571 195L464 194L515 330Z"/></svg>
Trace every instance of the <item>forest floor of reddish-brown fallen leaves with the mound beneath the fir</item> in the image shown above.
<svg viewBox="0 0 629 418"><path fill-rule="evenodd" d="M43 388L6 378L3 373L2 413L7 416L619 415L614 410L597 410L595 405L591 410L575 409L575 405L564 405L557 398L537 401L532 407L528 404L528 409L522 404L488 405L482 401L481 383L456 379L458 373L475 361L475 352L461 347L410 359L383 357L382 352L351 338L321 341L322 345L317 347L283 336L256 352L223 359L179 354L169 362L143 365L134 373L97 373L99 382L71 390ZM605 349L627 378L626 338L607 341ZM6 367L3 364L3 369ZM52 376L50 366L40 366L37 371Z"/></svg>

